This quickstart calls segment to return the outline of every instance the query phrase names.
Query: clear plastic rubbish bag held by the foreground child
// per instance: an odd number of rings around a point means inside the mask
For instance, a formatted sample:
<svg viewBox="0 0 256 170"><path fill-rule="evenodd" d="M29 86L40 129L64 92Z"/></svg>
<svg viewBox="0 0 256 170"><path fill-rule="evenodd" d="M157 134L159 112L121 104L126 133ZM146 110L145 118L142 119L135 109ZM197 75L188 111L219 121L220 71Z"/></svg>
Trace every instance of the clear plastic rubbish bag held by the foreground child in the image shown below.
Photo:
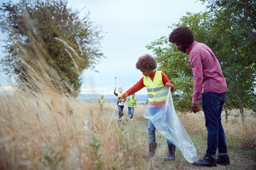
<svg viewBox="0 0 256 170"><path fill-rule="evenodd" d="M166 87L164 86L163 88ZM198 160L196 147L193 145L191 138L188 136L181 121L178 119L174 109L171 91L166 91L166 94L168 94L166 103L162 108L159 108L157 112L152 113L150 111L154 108L151 103L148 103L143 116L144 118L151 120L156 127L156 130L181 150L183 157L185 157L189 163L196 162Z"/></svg>

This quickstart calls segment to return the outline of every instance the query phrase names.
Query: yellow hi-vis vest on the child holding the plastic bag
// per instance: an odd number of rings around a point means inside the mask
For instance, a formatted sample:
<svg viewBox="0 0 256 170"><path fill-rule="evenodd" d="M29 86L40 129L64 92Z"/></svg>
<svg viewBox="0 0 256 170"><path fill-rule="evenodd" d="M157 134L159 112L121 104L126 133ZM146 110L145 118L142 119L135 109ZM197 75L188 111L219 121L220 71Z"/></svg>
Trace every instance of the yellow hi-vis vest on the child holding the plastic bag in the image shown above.
<svg viewBox="0 0 256 170"><path fill-rule="evenodd" d="M168 89L164 86L161 76L161 71L156 71L154 80L150 77L144 77L143 83L148 91L148 100L151 102L165 101L168 94Z"/></svg>

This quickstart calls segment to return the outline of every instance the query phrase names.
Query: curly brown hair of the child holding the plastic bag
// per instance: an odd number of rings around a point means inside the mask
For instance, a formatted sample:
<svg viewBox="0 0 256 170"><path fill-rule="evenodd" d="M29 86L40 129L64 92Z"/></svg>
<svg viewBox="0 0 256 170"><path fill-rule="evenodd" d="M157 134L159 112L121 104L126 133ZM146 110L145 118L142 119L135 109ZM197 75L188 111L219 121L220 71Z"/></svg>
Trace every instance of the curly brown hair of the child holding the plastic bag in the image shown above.
<svg viewBox="0 0 256 170"><path fill-rule="evenodd" d="M136 63L137 69L156 69L156 60L151 55L139 57Z"/></svg>

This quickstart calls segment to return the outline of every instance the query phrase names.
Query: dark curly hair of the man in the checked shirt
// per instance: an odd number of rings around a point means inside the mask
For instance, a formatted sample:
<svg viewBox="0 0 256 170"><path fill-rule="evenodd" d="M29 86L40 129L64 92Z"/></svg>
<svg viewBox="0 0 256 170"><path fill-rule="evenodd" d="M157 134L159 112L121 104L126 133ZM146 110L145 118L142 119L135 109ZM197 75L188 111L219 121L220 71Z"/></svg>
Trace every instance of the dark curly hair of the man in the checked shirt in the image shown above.
<svg viewBox="0 0 256 170"><path fill-rule="evenodd" d="M194 40L193 31L186 26L176 28L169 36L169 42L178 43L179 45L191 45Z"/></svg>

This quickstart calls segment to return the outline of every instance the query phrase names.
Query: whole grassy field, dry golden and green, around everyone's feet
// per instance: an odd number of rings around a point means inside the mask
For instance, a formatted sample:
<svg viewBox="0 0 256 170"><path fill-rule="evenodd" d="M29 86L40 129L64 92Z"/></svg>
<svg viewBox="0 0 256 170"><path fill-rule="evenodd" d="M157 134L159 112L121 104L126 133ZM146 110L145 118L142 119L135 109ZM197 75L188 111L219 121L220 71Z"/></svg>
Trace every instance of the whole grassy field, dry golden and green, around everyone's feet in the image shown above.
<svg viewBox="0 0 256 170"><path fill-rule="evenodd" d="M186 162L176 149L176 160L164 162L166 139L156 132L156 155L148 152L145 106L135 108L134 121L127 107L122 121L114 118L114 103L78 101L56 93L16 91L0 96L0 169L208 169ZM207 131L203 113L178 114L196 146L198 158L206 152ZM223 120L231 164L212 169L256 169L256 119Z"/></svg>

